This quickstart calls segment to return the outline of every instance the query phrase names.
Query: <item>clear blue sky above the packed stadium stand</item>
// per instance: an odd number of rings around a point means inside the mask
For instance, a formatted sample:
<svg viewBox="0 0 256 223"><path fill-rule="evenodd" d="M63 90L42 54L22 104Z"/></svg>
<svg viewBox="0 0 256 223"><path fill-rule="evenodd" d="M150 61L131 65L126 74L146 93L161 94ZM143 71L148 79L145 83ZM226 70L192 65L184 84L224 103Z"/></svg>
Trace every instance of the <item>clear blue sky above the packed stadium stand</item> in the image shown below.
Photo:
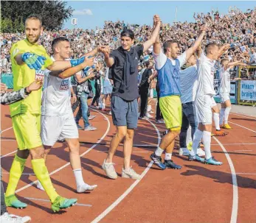
<svg viewBox="0 0 256 223"><path fill-rule="evenodd" d="M77 28L94 29L103 27L104 21L125 21L130 24L152 24L153 15L158 14L164 23L194 21L193 13L207 13L217 9L227 13L229 7L236 6L242 11L253 9L255 1L68 1L77 18ZM72 29L71 19L64 28Z"/></svg>

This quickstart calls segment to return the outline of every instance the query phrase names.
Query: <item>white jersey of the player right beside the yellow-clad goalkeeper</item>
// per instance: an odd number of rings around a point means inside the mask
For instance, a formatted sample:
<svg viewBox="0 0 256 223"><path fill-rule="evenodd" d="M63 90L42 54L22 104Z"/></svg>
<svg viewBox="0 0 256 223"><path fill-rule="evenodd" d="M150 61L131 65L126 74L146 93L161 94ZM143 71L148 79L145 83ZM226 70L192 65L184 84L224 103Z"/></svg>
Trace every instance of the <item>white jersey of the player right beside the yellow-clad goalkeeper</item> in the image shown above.
<svg viewBox="0 0 256 223"><path fill-rule="evenodd" d="M52 57L52 60L54 58ZM43 116L63 116L72 113L71 107L71 78L61 79L44 70L44 91L42 98Z"/></svg>

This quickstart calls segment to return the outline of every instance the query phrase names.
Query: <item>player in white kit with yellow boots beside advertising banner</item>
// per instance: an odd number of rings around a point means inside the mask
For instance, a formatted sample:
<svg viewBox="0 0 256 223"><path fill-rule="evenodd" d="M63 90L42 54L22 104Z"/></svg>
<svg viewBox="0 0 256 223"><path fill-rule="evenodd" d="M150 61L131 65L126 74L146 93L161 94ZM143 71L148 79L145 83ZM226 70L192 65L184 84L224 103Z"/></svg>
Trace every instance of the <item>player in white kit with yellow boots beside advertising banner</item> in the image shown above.
<svg viewBox="0 0 256 223"><path fill-rule="evenodd" d="M234 66L247 66L245 63L240 63L239 61L235 61L229 63L229 59L221 60L221 69L220 73L220 96L221 96L221 116L220 116L220 125L222 128L226 130L230 130L231 127L228 124L229 112L231 110L231 102L229 98L230 93L230 73L229 70ZM237 80L240 78L235 78ZM224 124L223 124L224 121Z"/></svg>

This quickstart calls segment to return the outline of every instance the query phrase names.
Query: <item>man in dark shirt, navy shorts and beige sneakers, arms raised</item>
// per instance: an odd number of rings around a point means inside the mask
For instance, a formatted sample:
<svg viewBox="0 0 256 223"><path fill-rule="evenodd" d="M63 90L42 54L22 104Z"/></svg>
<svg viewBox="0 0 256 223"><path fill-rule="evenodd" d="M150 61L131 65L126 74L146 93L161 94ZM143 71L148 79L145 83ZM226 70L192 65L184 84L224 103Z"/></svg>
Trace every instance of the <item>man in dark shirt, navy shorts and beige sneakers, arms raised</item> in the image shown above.
<svg viewBox="0 0 256 223"><path fill-rule="evenodd" d="M155 15L151 38L142 45L132 47L134 44L134 32L125 29L121 32L121 46L109 53L105 49L105 63L110 68L109 77L114 81L111 96L111 112L114 125L117 127L117 134L112 138L108 155L103 162L103 169L111 179L117 179L117 172L114 169L113 157L120 142L124 138L124 164L122 177L140 179L140 175L131 168L131 151L134 141L134 129L138 124L138 63L139 57L146 52L156 41L159 34L161 21Z"/></svg>

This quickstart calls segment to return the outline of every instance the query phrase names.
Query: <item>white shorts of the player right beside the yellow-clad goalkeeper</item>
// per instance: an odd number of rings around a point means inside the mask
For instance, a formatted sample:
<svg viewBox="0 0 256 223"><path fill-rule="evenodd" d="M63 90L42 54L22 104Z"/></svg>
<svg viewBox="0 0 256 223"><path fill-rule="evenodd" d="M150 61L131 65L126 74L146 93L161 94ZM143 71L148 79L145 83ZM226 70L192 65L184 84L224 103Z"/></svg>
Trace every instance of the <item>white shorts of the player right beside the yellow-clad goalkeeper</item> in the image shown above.
<svg viewBox="0 0 256 223"><path fill-rule="evenodd" d="M41 117L41 139L45 146L53 146L65 138L79 138L73 113Z"/></svg>

